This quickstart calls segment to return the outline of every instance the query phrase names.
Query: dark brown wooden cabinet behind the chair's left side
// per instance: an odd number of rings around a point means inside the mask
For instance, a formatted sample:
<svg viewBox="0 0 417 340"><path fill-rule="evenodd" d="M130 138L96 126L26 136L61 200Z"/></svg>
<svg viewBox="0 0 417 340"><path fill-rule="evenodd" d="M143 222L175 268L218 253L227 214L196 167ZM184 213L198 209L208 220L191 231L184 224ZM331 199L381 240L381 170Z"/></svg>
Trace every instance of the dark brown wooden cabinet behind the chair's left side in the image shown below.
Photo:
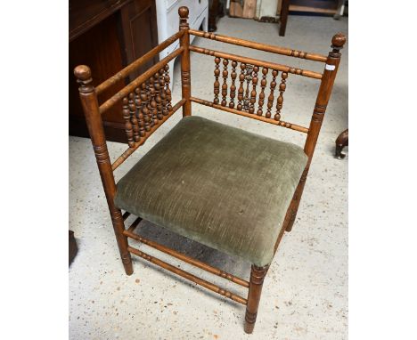
<svg viewBox="0 0 417 340"><path fill-rule="evenodd" d="M79 64L88 65L94 85L99 85L156 45L158 28L154 0L70 1L70 134L88 137L73 69ZM158 56L155 56L138 69L136 75L157 61ZM126 81L101 93L99 101L110 98ZM127 142L121 104L102 118L109 141Z"/></svg>

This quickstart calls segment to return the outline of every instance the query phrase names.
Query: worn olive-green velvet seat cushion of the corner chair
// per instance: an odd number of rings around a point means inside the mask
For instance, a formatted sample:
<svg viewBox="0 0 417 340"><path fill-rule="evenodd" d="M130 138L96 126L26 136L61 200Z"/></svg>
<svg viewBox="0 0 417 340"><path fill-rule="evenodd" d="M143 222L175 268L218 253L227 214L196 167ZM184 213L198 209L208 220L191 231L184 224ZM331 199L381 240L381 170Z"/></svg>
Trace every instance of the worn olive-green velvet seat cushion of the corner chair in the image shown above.
<svg viewBox="0 0 417 340"><path fill-rule="evenodd" d="M115 203L264 266L306 164L294 144L184 117L118 182Z"/></svg>

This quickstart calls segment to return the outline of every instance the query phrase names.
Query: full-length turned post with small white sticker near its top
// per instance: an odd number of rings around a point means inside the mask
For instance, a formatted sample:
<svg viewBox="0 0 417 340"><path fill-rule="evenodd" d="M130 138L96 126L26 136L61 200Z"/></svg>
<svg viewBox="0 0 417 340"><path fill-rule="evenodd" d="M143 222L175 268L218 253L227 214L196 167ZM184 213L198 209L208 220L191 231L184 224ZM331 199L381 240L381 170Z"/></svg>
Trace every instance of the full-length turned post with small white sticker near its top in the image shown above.
<svg viewBox="0 0 417 340"><path fill-rule="evenodd" d="M301 179L298 182L298 187L292 198L290 207L287 211L287 215L285 215L283 225L285 226L286 231L291 231L292 225L294 224L295 218L297 216L299 201L304 190L304 185L306 184L308 169L310 168L311 160L315 152L315 144L320 133L320 128L322 127L324 113L326 112L327 103L329 102L331 96L331 89L333 88L334 79L339 69L341 55L340 49L343 48L345 43L346 36L341 33L336 34L331 39L332 51L329 53L326 65L324 67L322 82L320 84L320 89L315 101L315 110L313 111L313 116L311 117L307 140L304 145L304 152L306 152L308 156L307 166L304 169L304 172L301 175Z"/></svg>

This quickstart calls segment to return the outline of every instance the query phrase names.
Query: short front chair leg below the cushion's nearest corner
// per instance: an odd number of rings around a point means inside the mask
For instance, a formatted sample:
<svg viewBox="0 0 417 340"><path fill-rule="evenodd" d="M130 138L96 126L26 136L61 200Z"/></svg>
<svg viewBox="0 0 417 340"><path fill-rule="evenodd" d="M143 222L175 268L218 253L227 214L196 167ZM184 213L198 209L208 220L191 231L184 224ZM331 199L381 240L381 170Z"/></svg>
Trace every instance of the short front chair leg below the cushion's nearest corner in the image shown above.
<svg viewBox="0 0 417 340"><path fill-rule="evenodd" d="M248 334L253 332L255 322L257 321L259 300L262 292L262 285L266 276L266 271L268 271L267 265L265 267L257 267L256 265L252 264L244 327L245 332Z"/></svg>

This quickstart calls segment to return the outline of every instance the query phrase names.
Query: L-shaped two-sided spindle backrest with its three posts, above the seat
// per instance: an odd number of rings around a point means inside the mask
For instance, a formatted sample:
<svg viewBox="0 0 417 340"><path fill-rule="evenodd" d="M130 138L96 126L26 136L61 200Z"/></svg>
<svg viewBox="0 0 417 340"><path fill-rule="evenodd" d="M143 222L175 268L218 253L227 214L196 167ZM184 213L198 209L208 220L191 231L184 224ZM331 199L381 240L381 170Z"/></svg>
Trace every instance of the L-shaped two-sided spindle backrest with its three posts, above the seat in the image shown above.
<svg viewBox="0 0 417 340"><path fill-rule="evenodd" d="M143 142L171 117L177 109L182 107L184 116L191 115L191 103L195 102L307 134L304 150L309 158L308 168L315 150L315 143L323 122L324 112L330 99L333 82L339 68L339 50L345 44L346 37L342 34L333 36L331 40L332 51L328 56L324 56L190 29L187 21L188 9L181 7L178 13L180 15L179 31L174 36L169 37L149 53L146 53L143 57L137 59L96 88L91 85L91 71L88 67L81 65L75 69L74 73L80 85L80 98L94 144L97 162L104 158L104 155L100 154L100 152L102 152L103 145L105 147L101 116L103 112L113 107L116 103L121 101L123 105L120 114L123 115L125 120L128 149L110 166L110 169L108 169L110 173L120 166L137 148L143 145ZM323 73L190 45L190 35L269 53L323 62ZM102 93L120 79L126 79L145 62L150 61L157 53L175 43L176 40L180 40L180 47L176 51L168 54L167 57L157 62L142 75L128 83L118 93L115 93L110 99L99 105L97 101L99 93ZM206 101L191 95L190 52L203 53L215 57L213 101ZM171 103L169 86L168 62L179 55L181 55L182 99L173 105ZM230 73L229 68L231 68ZM267 81L268 75L272 77L269 84ZM286 81L292 75L296 77L311 77L321 82L308 127L292 124L281 119ZM105 149L107 153L107 148ZM107 163L110 163L110 159Z"/></svg>

